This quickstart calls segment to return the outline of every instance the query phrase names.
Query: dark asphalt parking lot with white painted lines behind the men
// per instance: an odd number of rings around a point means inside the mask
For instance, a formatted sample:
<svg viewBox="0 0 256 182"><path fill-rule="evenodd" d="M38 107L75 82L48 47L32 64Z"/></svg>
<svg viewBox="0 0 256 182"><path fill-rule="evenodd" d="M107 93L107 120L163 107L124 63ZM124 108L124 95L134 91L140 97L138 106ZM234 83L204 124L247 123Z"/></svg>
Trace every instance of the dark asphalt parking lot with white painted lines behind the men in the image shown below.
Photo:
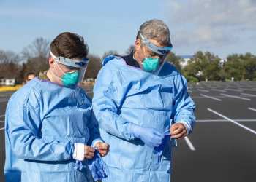
<svg viewBox="0 0 256 182"><path fill-rule="evenodd" d="M86 90L92 95L91 87ZM4 112L0 93L0 181L4 181ZM256 181L256 82L189 84L197 105L192 135L173 151L175 182Z"/></svg>

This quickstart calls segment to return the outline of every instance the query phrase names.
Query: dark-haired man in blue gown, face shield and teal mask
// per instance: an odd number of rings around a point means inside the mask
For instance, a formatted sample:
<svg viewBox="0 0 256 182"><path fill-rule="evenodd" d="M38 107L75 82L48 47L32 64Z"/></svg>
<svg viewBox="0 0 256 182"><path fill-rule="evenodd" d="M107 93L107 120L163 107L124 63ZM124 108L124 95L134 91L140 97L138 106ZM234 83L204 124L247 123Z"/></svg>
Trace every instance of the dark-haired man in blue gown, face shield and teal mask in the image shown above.
<svg viewBox="0 0 256 182"><path fill-rule="evenodd" d="M109 146L100 138L91 99L78 86L87 55L83 37L59 34L50 44L49 70L10 98L5 116L6 182L94 181L95 171L87 162L95 148L103 157Z"/></svg>

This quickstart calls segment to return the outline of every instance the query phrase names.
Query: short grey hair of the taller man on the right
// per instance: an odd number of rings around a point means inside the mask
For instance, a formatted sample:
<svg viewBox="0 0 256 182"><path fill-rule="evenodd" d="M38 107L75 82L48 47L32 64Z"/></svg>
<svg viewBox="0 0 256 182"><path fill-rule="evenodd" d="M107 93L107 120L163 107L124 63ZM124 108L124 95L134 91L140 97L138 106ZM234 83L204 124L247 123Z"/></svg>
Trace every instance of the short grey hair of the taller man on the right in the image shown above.
<svg viewBox="0 0 256 182"><path fill-rule="evenodd" d="M169 28L162 20L153 19L146 21L140 25L137 39L141 39L140 33L146 39L154 39L162 46L171 46Z"/></svg>

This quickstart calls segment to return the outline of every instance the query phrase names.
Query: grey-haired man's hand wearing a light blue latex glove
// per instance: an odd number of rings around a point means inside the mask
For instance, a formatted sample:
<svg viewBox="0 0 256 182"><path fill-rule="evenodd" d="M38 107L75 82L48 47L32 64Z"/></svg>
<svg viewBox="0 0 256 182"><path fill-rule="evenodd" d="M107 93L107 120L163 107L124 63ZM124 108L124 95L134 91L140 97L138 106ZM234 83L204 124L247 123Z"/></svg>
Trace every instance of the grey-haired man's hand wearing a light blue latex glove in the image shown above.
<svg viewBox="0 0 256 182"><path fill-rule="evenodd" d="M130 132L135 138L140 138L146 145L157 147L162 143L164 135L149 127L140 127L137 124L131 123Z"/></svg>

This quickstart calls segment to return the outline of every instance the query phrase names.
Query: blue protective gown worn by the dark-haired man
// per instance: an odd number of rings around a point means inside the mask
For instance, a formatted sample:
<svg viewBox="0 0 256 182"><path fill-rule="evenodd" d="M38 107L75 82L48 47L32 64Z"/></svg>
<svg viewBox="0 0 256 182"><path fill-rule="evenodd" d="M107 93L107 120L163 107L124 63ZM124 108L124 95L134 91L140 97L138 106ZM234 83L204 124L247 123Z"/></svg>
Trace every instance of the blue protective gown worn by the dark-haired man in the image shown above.
<svg viewBox="0 0 256 182"><path fill-rule="evenodd" d="M6 182L93 181L72 159L74 143L99 140L83 89L35 78L12 95L5 119Z"/></svg>

